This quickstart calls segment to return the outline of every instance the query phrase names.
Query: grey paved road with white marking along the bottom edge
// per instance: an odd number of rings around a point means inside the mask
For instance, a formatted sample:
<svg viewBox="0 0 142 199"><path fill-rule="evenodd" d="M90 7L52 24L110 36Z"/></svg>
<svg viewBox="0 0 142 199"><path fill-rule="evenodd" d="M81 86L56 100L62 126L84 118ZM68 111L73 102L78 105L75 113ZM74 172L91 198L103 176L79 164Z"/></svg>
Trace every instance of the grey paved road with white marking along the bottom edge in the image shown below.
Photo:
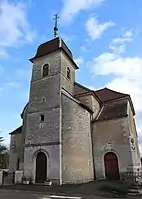
<svg viewBox="0 0 142 199"><path fill-rule="evenodd" d="M32 191L19 191L19 190L6 190L0 189L0 199L91 199L90 197L78 196L59 196L59 195L46 195L43 193L36 193ZM100 197L93 197L93 199L103 199Z"/></svg>

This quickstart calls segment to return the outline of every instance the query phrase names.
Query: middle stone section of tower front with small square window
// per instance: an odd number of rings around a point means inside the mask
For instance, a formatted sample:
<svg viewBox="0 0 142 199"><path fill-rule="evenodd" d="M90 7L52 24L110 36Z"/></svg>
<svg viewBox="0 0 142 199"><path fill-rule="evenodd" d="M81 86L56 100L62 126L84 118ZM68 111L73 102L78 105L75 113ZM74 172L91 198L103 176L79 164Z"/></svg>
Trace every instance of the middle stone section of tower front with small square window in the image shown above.
<svg viewBox="0 0 142 199"><path fill-rule="evenodd" d="M25 145L60 142L60 113L61 108L53 108L28 114Z"/></svg>

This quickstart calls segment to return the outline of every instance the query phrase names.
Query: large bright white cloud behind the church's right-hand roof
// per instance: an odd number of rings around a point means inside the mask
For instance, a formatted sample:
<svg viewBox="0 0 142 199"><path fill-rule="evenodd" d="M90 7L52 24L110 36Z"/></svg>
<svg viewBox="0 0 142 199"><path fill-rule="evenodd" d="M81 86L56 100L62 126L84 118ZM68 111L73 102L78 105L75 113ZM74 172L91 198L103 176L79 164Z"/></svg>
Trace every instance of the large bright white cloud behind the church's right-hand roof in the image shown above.
<svg viewBox="0 0 142 199"><path fill-rule="evenodd" d="M131 95L142 149L142 57L128 57L122 54L126 50L126 43L133 41L133 36L133 32L128 30L120 38L113 39L110 45L112 48L109 46L112 52L108 51L94 58L91 65L94 75L114 76L113 80L105 85L106 87ZM123 51L120 50L121 45Z"/></svg>

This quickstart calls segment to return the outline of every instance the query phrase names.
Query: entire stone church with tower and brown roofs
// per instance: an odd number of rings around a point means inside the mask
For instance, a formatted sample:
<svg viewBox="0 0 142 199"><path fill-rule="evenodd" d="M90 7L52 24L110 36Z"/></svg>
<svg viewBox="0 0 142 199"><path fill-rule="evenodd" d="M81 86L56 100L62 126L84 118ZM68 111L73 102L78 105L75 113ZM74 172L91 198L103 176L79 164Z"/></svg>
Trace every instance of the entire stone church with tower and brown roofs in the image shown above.
<svg viewBox="0 0 142 199"><path fill-rule="evenodd" d="M119 179L141 170L135 110L129 94L91 90L75 80L72 52L56 37L32 62L22 125L10 133L9 171L33 183Z"/></svg>

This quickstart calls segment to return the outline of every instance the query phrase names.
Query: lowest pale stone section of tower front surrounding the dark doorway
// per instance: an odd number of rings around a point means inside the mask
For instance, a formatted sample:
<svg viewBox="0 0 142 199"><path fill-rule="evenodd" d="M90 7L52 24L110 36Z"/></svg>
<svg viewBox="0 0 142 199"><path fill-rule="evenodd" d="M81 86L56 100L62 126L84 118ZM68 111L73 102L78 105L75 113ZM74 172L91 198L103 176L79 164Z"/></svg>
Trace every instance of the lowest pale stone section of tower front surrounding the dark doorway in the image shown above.
<svg viewBox="0 0 142 199"><path fill-rule="evenodd" d="M25 147L24 176L30 178L35 183L36 157L38 152L46 154L47 178L53 183L60 184L60 144Z"/></svg>

